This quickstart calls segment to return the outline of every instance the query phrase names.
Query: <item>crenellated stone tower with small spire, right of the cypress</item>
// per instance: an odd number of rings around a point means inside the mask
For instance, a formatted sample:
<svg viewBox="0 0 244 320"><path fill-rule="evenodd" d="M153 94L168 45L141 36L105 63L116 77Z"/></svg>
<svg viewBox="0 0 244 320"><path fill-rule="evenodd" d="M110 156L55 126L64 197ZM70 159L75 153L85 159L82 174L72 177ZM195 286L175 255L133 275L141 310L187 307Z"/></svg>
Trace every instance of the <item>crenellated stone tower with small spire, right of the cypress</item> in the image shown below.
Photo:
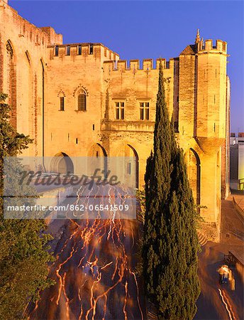
<svg viewBox="0 0 244 320"><path fill-rule="evenodd" d="M200 41L199 31L195 44L179 55L179 139L186 148L194 138L190 148L194 156L190 152L187 158L189 168L192 161L192 166L196 164L192 188L196 203L207 207L201 209L202 215L213 222L220 219L221 194L222 198L228 194L227 57L225 41L217 40L213 46L212 40ZM214 196L208 196L207 190Z"/></svg>

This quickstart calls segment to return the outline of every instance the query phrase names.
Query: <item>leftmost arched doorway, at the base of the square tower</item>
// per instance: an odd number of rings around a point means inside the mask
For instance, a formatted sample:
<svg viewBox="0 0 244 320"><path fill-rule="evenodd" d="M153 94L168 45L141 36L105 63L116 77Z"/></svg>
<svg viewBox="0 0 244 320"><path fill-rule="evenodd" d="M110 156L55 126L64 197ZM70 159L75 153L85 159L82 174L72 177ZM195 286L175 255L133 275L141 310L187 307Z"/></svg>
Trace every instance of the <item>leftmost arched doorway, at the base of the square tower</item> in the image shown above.
<svg viewBox="0 0 244 320"><path fill-rule="evenodd" d="M56 154L51 161L50 171L57 174L74 174L74 164L70 156L64 152Z"/></svg>

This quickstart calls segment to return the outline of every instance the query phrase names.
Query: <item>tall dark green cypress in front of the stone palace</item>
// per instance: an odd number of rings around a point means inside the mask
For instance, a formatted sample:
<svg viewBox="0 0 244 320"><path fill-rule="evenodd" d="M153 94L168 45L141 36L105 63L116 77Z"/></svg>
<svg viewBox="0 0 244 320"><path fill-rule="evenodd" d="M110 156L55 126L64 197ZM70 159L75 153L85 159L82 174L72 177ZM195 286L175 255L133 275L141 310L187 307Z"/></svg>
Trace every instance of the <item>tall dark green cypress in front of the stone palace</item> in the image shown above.
<svg viewBox="0 0 244 320"><path fill-rule="evenodd" d="M145 174L143 273L159 319L193 319L199 296L196 210L170 124L160 63L153 154Z"/></svg>

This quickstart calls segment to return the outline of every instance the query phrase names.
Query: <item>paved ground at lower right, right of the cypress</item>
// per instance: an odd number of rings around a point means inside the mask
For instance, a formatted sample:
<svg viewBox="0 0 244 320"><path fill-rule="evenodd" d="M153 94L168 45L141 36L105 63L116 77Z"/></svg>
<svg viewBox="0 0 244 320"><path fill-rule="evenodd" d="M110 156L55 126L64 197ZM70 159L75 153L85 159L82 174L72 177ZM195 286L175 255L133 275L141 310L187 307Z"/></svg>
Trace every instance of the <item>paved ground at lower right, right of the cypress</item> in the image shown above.
<svg viewBox="0 0 244 320"><path fill-rule="evenodd" d="M198 320L238 320L244 319L243 314L243 277L233 267L235 291L230 284L218 283L216 270L223 264L224 255L228 251L235 253L243 262L244 255L244 219L234 209L232 197L243 208L243 195L230 195L222 201L221 242L207 242L199 254L199 279L201 295L197 302L198 311L194 319Z"/></svg>

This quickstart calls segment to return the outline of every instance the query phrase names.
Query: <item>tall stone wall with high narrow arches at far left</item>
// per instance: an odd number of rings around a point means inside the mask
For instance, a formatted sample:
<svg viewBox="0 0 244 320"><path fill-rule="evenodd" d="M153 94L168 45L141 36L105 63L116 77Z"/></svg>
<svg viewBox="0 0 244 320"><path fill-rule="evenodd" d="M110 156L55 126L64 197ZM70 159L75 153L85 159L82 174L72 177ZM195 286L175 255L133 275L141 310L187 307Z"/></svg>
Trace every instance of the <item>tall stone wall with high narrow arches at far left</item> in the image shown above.
<svg viewBox="0 0 244 320"><path fill-rule="evenodd" d="M13 126L35 139L26 155L42 155L43 68L51 43L62 43L62 35L34 26L0 0L0 91L9 95Z"/></svg>

